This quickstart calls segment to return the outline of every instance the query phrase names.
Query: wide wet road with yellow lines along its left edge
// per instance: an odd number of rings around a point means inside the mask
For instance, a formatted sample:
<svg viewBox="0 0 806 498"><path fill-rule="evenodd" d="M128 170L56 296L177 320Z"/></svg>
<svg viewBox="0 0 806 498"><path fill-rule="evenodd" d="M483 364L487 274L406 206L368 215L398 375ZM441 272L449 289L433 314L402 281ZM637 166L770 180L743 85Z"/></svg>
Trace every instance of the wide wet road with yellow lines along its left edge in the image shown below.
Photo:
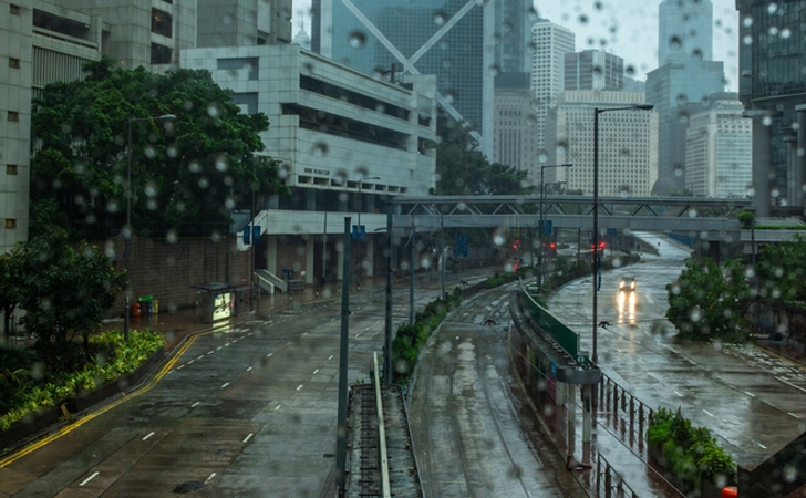
<svg viewBox="0 0 806 498"><path fill-rule="evenodd" d="M459 278L473 280L448 283ZM434 281L418 289L417 309L438 292ZM395 289L394 302L394 322L407 320L409 290ZM384 308L383 292L351 293L349 385L366 382L383 349ZM0 497L322 496L332 490L340 313L333 299L194 336L145 388L0 466Z"/></svg>

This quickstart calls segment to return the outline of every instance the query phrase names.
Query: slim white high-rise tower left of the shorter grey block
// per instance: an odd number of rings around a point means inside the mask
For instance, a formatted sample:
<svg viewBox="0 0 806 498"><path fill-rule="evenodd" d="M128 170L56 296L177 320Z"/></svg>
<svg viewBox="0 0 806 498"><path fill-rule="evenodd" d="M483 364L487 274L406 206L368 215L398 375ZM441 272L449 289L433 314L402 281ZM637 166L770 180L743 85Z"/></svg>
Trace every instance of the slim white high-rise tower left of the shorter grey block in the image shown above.
<svg viewBox="0 0 806 498"><path fill-rule="evenodd" d="M575 50L571 30L540 19L531 27L531 91L535 94L535 134L537 154L547 154L552 142L546 138L546 116L562 91L562 60Z"/></svg>

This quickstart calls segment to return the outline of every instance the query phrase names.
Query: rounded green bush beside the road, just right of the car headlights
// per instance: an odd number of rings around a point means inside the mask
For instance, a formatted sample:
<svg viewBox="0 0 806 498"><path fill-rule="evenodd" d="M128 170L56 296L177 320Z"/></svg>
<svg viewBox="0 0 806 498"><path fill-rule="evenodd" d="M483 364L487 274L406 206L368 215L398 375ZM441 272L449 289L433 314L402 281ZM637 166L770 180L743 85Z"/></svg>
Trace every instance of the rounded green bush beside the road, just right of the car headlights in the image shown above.
<svg viewBox="0 0 806 498"><path fill-rule="evenodd" d="M750 287L744 266L730 260L720 267L710 258L689 260L678 280L666 284L666 318L682 336L737 339L746 323Z"/></svg>

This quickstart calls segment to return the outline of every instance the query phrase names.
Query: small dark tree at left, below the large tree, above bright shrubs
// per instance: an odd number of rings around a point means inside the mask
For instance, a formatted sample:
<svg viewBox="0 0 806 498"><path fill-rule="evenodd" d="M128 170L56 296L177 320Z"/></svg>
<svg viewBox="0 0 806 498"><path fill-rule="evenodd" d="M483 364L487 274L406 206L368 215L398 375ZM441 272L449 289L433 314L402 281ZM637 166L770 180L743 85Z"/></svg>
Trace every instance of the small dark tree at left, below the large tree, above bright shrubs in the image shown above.
<svg viewBox="0 0 806 498"><path fill-rule="evenodd" d="M115 271L113 260L97 248L71 246L64 232L18 246L11 258L20 267L21 323L37 336L40 353L63 359L76 335L86 352L89 336L125 288L125 273Z"/></svg>

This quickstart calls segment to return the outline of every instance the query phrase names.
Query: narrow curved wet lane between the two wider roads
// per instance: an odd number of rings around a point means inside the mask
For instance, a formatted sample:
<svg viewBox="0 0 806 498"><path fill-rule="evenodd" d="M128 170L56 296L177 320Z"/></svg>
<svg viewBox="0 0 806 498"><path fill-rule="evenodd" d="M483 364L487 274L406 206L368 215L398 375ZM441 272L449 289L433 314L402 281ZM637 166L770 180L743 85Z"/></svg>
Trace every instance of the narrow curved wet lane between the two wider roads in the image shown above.
<svg viewBox="0 0 806 498"><path fill-rule="evenodd" d="M512 292L509 286L464 302L422 356L411 425L426 496L585 496L565 469L558 476L547 465L556 452L533 444L510 395Z"/></svg>

